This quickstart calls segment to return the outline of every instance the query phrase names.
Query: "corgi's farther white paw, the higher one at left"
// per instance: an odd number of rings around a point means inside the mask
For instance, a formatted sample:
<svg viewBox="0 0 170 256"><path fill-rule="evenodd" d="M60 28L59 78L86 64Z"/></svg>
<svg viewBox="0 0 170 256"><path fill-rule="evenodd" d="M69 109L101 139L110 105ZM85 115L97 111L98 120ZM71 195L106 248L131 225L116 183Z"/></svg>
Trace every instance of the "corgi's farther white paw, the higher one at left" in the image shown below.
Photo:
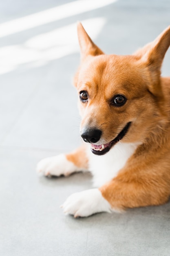
<svg viewBox="0 0 170 256"><path fill-rule="evenodd" d="M77 171L77 167L66 159L64 154L42 159L37 165L37 171L48 175L69 175Z"/></svg>

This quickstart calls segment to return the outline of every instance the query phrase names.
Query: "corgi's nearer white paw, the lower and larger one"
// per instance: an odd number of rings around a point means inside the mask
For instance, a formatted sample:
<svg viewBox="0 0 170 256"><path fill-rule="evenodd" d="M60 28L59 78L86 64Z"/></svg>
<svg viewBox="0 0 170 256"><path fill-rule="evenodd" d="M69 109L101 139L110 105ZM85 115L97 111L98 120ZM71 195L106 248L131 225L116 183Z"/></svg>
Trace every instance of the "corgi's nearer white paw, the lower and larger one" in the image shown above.
<svg viewBox="0 0 170 256"><path fill-rule="evenodd" d="M77 217L87 217L103 211L111 212L110 204L99 189L88 189L70 195L61 206L64 213Z"/></svg>

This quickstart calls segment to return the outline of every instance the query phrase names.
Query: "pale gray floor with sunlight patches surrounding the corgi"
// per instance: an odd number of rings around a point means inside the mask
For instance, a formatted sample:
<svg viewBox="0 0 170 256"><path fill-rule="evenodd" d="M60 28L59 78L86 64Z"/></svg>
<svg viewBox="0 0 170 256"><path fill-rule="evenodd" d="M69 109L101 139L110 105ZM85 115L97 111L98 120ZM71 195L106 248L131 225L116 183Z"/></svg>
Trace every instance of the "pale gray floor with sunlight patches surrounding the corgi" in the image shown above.
<svg viewBox="0 0 170 256"><path fill-rule="evenodd" d="M49 179L35 172L43 157L80 143L71 86L79 63L77 20L108 54L131 54L170 25L169 0L86 0L81 6L0 1L0 255L169 256L170 203L74 219L59 206L91 188L91 176ZM169 67L170 51L163 75Z"/></svg>

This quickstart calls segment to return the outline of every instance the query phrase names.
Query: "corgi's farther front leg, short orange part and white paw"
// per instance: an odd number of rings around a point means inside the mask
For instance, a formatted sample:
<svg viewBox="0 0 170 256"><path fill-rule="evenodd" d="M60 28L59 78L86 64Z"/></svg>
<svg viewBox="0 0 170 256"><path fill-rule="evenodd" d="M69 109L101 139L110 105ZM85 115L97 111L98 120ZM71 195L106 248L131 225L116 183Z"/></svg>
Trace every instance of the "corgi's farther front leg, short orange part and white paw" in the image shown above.
<svg viewBox="0 0 170 256"><path fill-rule="evenodd" d="M37 165L37 171L45 176L68 176L71 173L88 170L88 157L84 144L70 154L60 154L42 159Z"/></svg>

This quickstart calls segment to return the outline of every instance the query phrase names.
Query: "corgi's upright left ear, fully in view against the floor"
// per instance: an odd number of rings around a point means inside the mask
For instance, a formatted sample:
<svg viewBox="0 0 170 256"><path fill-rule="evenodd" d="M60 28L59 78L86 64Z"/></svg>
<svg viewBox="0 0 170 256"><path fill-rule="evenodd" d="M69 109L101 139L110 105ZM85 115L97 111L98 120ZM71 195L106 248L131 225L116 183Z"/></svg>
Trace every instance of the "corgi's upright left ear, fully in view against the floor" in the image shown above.
<svg viewBox="0 0 170 256"><path fill-rule="evenodd" d="M88 36L87 32L85 31L84 27L80 22L78 22L77 24L77 34L82 60L88 55L96 56L104 54L104 52L102 52L102 50L93 43L90 36Z"/></svg>

